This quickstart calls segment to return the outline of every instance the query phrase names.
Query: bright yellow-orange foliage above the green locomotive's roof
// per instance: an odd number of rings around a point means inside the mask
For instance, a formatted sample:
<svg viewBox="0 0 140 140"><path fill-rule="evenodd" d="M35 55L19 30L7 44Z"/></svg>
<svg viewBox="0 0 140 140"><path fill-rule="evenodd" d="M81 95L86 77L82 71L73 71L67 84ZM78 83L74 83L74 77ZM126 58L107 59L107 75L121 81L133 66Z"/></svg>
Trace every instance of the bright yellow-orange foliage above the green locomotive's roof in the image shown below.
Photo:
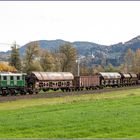
<svg viewBox="0 0 140 140"><path fill-rule="evenodd" d="M6 71L6 72L16 72L16 68L13 66L8 65L7 63L0 62L0 71Z"/></svg>

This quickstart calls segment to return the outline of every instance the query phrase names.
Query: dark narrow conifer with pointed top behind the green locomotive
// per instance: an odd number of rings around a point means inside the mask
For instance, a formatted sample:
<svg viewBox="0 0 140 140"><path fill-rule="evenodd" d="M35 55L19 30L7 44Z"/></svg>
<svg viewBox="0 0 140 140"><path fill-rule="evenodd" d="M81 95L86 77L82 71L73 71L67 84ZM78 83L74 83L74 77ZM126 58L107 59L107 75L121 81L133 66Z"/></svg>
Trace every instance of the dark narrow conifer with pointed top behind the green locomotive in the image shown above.
<svg viewBox="0 0 140 140"><path fill-rule="evenodd" d="M21 71L21 59L20 59L20 54L19 54L19 48L16 43L14 43L11 48L12 48L12 51L11 51L9 64L11 66L14 66L18 71Z"/></svg>

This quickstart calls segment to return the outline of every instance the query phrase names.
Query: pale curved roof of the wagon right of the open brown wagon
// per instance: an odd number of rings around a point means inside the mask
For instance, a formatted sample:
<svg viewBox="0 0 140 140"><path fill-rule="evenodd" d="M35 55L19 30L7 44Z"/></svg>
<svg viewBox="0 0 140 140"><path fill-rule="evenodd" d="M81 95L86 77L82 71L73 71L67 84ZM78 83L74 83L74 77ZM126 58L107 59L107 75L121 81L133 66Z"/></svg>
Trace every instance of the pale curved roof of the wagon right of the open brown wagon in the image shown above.
<svg viewBox="0 0 140 140"><path fill-rule="evenodd" d="M121 75L118 72L100 72L104 79L121 79Z"/></svg>

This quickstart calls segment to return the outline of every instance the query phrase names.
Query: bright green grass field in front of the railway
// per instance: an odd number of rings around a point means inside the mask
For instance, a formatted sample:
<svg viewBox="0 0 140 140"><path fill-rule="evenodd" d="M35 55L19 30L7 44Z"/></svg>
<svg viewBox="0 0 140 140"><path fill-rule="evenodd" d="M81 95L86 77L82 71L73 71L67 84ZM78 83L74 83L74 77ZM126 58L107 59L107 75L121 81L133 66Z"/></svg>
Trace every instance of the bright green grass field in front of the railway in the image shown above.
<svg viewBox="0 0 140 140"><path fill-rule="evenodd" d="M140 89L0 103L0 138L140 138Z"/></svg>

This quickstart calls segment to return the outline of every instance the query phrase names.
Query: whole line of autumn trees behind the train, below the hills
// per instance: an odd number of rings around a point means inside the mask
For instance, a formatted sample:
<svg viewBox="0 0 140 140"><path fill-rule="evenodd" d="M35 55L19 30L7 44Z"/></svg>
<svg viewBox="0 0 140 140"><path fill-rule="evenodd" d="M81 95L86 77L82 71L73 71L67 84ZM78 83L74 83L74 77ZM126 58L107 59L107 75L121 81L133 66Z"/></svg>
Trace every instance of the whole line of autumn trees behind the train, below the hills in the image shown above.
<svg viewBox="0 0 140 140"><path fill-rule="evenodd" d="M9 65L19 72L30 73L31 71L51 71L51 72L72 72L77 75L78 65L80 66L80 75L93 75L98 72L140 72L140 49L133 52L128 49L124 54L124 63L119 67L111 64L88 65L90 59L81 59L76 63L78 54L76 48L70 43L59 46L55 52L41 49L38 42L31 42L25 49L25 54L20 56L19 47L13 44L11 47L11 57Z"/></svg>

